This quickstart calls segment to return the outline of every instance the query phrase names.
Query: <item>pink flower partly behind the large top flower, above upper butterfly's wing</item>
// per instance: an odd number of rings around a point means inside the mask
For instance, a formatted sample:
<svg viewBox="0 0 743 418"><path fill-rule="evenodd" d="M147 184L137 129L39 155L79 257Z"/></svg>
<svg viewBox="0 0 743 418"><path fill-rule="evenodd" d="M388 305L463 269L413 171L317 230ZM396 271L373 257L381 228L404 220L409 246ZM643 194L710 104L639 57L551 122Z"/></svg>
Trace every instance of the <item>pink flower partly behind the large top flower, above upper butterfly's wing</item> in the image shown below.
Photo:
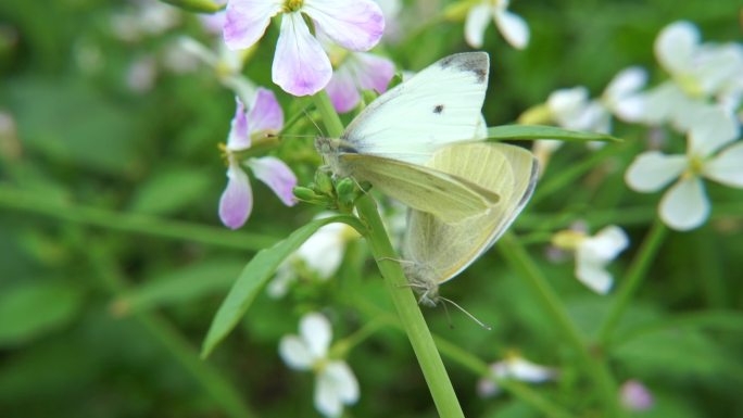
<svg viewBox="0 0 743 418"><path fill-rule="evenodd" d="M350 53L336 68L326 91L336 111L345 113L356 107L361 90L383 93L392 76L392 61L365 52Z"/></svg>

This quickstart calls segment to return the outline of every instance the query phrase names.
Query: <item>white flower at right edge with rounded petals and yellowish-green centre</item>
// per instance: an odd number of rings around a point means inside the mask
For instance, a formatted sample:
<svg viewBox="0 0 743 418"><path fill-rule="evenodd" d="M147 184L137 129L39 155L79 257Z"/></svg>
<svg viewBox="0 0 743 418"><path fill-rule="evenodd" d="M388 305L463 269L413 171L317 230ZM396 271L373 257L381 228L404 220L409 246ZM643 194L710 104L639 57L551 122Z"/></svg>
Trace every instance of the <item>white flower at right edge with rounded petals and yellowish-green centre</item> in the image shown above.
<svg viewBox="0 0 743 418"><path fill-rule="evenodd" d="M684 155L666 155L647 151L638 155L625 174L630 188L651 193L678 181L660 200L660 219L677 230L702 226L709 216L710 204L703 178L743 188L743 142L735 141L738 126L719 107L703 113L688 136Z"/></svg>

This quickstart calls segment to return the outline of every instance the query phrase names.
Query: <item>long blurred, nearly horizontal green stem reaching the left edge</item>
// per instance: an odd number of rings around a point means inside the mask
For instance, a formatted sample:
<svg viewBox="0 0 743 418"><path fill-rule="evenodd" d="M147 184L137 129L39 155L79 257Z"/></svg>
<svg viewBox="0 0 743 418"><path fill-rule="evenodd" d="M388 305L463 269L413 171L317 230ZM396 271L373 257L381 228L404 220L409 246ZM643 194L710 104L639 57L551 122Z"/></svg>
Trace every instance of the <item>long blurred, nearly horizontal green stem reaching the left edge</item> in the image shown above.
<svg viewBox="0 0 743 418"><path fill-rule="evenodd" d="M5 185L0 185L0 207L122 232L141 233L238 250L256 251L276 243L275 238L257 233L234 232L223 228L163 219L150 215L50 202L38 193L17 190Z"/></svg>

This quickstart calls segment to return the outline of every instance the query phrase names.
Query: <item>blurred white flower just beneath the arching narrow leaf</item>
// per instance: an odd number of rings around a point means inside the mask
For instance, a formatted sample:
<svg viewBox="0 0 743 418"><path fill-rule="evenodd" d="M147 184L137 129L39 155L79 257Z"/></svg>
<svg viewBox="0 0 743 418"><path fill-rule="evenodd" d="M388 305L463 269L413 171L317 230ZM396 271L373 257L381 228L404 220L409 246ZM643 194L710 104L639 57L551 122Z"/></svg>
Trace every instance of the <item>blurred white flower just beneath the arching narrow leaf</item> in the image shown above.
<svg viewBox="0 0 743 418"><path fill-rule="evenodd" d="M315 218L320 219L331 215L331 213L322 213ZM356 230L343 223L328 224L319 228L281 264L266 288L268 295L278 299L287 294L291 283L298 278L297 265L299 263L312 270L320 280L328 280L338 271L343 261L345 245L357 237Z"/></svg>

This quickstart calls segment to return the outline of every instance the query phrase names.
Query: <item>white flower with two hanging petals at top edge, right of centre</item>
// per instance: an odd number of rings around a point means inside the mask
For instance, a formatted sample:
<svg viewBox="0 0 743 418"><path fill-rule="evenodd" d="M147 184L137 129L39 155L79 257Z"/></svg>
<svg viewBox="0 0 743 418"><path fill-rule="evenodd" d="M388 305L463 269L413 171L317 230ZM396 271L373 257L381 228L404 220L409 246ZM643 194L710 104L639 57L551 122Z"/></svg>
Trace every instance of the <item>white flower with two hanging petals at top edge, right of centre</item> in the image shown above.
<svg viewBox="0 0 743 418"><path fill-rule="evenodd" d="M529 25L521 16L508 11L509 0L483 0L467 13L465 40L473 48L482 48L488 23L492 18L501 35L516 49L529 45Z"/></svg>

